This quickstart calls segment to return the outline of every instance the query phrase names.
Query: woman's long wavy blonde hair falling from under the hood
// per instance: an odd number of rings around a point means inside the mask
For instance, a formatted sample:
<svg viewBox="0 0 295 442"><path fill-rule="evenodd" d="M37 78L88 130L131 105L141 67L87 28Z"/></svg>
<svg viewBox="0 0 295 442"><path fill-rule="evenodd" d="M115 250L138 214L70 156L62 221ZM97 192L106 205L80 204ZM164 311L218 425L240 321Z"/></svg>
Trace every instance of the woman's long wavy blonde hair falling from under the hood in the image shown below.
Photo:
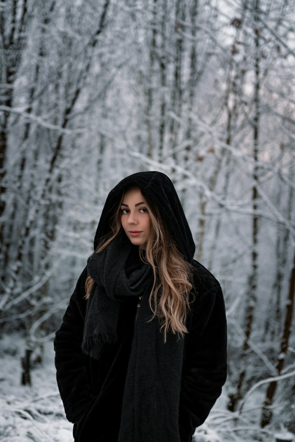
<svg viewBox="0 0 295 442"><path fill-rule="evenodd" d="M126 189L127 190L127 189ZM142 193L142 192L141 192ZM111 232L101 238L96 253L100 253L121 230L121 211L125 192L118 201L117 208L110 220ZM189 310L189 294L192 290L192 264L188 263L180 253L172 237L166 221L161 216L157 205L151 198L142 193L151 221L150 234L145 244L139 245L139 255L142 261L147 262L153 269L153 288L149 295L149 306L154 317L161 321L164 328L164 342L166 342L169 328L173 334L183 336L188 330L185 320ZM143 255L145 250L145 256ZM93 285L93 279L88 276L85 282L88 299Z"/></svg>

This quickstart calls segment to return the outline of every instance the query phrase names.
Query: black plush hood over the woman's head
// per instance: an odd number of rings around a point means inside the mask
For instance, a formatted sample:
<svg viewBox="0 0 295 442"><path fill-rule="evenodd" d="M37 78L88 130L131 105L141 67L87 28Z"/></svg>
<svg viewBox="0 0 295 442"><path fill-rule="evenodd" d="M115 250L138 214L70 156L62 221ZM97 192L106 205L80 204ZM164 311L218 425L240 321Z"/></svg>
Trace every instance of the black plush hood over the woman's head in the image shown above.
<svg viewBox="0 0 295 442"><path fill-rule="evenodd" d="M144 194L157 203L180 252L188 262L192 262L195 243L180 200L171 179L164 173L157 171L137 172L129 175L110 191L96 230L94 250L96 250L100 238L110 231L109 221L116 210L116 203L123 191L131 186L139 187Z"/></svg>

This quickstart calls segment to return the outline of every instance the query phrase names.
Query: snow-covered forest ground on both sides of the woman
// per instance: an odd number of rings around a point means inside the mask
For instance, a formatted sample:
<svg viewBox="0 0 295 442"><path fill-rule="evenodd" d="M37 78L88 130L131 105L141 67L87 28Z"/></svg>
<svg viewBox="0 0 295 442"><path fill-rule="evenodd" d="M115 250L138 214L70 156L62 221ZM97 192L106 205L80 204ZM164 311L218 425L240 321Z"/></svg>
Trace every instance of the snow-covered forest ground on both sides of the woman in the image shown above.
<svg viewBox="0 0 295 442"><path fill-rule="evenodd" d="M45 345L43 365L31 372L31 387L20 385L23 346L18 335L0 340L0 441L73 442L73 424L65 419L57 389L52 342ZM224 390L206 423L197 428L194 441L272 442L274 431L262 432L255 423L261 400L262 396L253 396L238 416L226 410Z"/></svg>

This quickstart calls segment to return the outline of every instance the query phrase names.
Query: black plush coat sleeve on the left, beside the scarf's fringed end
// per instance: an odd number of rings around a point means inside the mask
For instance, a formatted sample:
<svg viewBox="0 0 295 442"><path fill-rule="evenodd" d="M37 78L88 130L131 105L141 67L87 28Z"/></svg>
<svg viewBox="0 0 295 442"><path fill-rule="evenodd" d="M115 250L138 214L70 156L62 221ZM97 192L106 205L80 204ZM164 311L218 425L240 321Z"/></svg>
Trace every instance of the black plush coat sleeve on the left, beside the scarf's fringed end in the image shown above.
<svg viewBox="0 0 295 442"><path fill-rule="evenodd" d="M77 422L95 400L88 376L88 358L81 351L86 309L84 285L87 276L85 267L54 339L57 385L65 415L73 423Z"/></svg>

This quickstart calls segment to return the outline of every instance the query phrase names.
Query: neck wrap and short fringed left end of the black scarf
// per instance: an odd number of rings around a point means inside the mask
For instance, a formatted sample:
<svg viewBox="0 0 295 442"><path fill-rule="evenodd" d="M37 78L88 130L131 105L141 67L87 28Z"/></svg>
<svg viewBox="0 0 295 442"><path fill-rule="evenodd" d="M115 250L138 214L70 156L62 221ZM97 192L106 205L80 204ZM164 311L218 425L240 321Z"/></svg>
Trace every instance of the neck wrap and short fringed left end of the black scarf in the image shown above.
<svg viewBox="0 0 295 442"><path fill-rule="evenodd" d="M121 301L151 290L151 267L139 257L138 246L131 244L123 232L100 253L94 252L87 262L94 284L87 303L82 350L99 359L104 343L117 341Z"/></svg>

